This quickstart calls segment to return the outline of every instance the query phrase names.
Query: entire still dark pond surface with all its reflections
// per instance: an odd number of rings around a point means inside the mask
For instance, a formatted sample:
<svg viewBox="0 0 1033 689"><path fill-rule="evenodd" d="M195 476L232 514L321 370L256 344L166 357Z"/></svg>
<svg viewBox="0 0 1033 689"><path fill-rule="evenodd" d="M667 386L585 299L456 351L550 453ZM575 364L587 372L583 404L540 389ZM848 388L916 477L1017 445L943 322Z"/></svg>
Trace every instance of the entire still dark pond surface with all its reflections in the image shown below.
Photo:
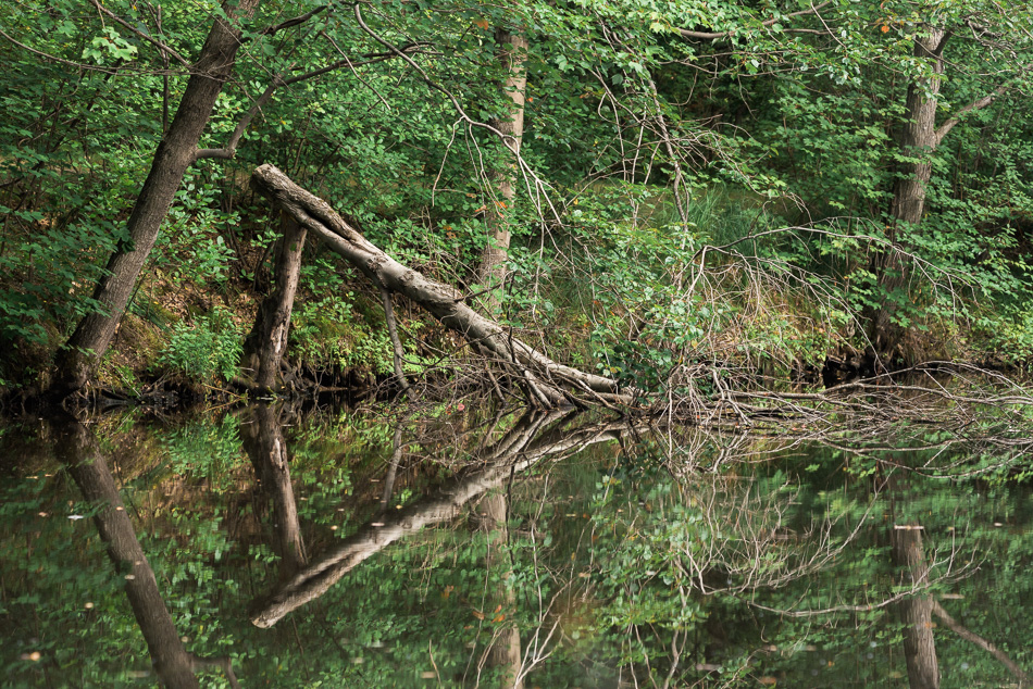
<svg viewBox="0 0 1033 689"><path fill-rule="evenodd" d="M413 409L0 435L3 687L1013 687L1023 438Z"/></svg>

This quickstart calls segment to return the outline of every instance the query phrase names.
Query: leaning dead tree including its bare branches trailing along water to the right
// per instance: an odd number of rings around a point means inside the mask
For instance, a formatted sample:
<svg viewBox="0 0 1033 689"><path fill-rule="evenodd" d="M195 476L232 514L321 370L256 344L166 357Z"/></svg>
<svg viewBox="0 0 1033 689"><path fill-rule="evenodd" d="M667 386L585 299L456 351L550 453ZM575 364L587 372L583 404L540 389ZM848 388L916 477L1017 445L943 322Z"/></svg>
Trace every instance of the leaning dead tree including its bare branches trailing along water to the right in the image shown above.
<svg viewBox="0 0 1033 689"><path fill-rule="evenodd" d="M256 170L251 181L301 227L369 277L386 296L386 304L396 293L411 300L497 362L523 387L528 400L542 408L599 405L707 426L746 426L766 421L779 424L787 418L827 423L848 413L869 418L888 414L894 419L929 419L933 410L949 417L939 421L963 424L985 415L987 410L998 413L1033 404L1033 396L1006 376L958 362L929 362L812 392L777 392L764 389L756 376L725 376L727 364L720 361L698 360L680 365L676 377L673 372L670 374L667 394L650 394L553 361L511 329L471 308L468 301L475 295L463 295L402 265L363 237L326 201L296 185L273 165ZM685 289L692 291L694 287ZM387 317L391 320L389 309ZM400 346L397 338L393 339L397 363ZM946 385L947 378L956 384L955 389ZM680 383L673 386L671 381ZM681 391L674 393L674 387Z"/></svg>

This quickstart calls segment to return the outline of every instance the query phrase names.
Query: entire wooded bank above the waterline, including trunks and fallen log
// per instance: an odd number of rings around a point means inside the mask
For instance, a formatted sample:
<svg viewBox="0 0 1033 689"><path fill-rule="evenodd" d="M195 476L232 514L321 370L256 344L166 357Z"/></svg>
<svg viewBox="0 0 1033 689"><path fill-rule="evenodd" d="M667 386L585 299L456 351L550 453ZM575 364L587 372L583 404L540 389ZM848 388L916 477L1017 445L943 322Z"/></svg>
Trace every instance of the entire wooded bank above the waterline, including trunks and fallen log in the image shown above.
<svg viewBox="0 0 1033 689"><path fill-rule="evenodd" d="M1026 404L1030 8L725 4L0 10L2 413Z"/></svg>

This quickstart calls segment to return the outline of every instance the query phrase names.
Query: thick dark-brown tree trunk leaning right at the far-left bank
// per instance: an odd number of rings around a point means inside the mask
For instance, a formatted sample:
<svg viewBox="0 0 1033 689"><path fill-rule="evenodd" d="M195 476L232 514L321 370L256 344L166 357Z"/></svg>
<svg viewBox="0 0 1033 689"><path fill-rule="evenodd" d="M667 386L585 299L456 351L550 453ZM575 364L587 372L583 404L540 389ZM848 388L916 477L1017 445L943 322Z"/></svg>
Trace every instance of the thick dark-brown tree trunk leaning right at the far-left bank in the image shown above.
<svg viewBox="0 0 1033 689"><path fill-rule="evenodd" d="M239 0L224 9L232 22L235 17L249 16L261 1ZM94 299L102 310L86 314L58 354L51 385L54 396L65 397L82 389L108 350L183 175L194 163L198 141L211 117L215 98L233 72L239 48L240 30L216 18L126 223L129 239L120 242L108 260L105 275L94 289Z"/></svg>

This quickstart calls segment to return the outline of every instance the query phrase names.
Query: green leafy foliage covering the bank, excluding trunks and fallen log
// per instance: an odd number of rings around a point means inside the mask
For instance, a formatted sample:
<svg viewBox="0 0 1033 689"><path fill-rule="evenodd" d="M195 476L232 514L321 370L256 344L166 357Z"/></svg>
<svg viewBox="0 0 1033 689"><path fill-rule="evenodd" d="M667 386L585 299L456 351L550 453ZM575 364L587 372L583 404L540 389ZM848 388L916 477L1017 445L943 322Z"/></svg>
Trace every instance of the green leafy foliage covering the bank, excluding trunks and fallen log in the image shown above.
<svg viewBox="0 0 1033 689"><path fill-rule="evenodd" d="M123 4L112 12L141 12ZM758 24L742 3L718 22L706 5L657 17L622 2L377 11L373 34L338 17L320 25L335 49L326 52L293 32L281 43L248 34L253 52L235 65L198 146L223 146L271 74L323 65L329 52L382 50L378 40L425 37L434 49L411 62L327 67L278 90L231 160L189 166L97 384L134 392L233 381L283 227L248 188L262 163L469 295L483 293L482 250L493 209L506 205L498 180L515 170L496 315L558 361L652 390L698 385L700 366L771 380L814 379L830 360L1029 366L1033 121L1022 96L1029 61L1016 59L1030 50L1029 32L974 0L949 11L826 5L820 17L788 15L810 27L800 32ZM187 88L187 72L170 74L173 53L155 52L153 36L123 35L63 2L33 10L42 18L29 26L25 8L36 3L0 10L18 38L0 42L5 393L46 389L76 324L103 311L95 285L132 243L141 180ZM173 3L153 30L191 54L206 12ZM253 20L276 12L263 5ZM949 64L916 57L931 27L976 15L1000 27L994 46L958 37ZM520 21L534 28L513 161L485 123L513 107L491 27ZM724 39L679 38L680 24L701 22L750 38L731 52ZM613 26L628 38L617 40ZM916 117L907 93L931 79L942 82L933 121L950 124L949 136L906 149L900 136ZM924 210L903 222L900 181L922 165ZM873 334L880 317L899 334L888 346ZM409 304L399 320L407 373L448 375L462 343ZM336 386L387 376L384 323L376 292L310 239L286 366Z"/></svg>

